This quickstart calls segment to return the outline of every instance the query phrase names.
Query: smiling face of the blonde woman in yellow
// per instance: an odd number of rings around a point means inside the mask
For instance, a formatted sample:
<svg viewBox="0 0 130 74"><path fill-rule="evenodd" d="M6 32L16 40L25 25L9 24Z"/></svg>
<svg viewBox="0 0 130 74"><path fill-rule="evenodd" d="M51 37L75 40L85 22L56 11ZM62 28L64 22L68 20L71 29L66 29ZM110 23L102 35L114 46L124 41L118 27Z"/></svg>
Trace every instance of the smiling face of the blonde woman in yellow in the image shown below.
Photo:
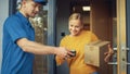
<svg viewBox="0 0 130 74"><path fill-rule="evenodd" d="M82 29L82 24L80 20L70 20L68 25L70 36L78 36L80 34Z"/></svg>

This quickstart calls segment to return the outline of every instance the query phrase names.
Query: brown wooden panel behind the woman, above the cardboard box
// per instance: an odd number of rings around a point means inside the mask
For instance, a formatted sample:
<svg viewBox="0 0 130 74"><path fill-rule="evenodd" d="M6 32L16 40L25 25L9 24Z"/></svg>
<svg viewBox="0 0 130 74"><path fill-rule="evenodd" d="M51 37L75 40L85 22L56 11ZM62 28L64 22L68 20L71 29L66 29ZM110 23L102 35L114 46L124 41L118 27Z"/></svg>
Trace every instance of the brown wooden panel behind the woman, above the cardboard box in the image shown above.
<svg viewBox="0 0 130 74"><path fill-rule="evenodd" d="M90 11L90 30L92 30L101 40L113 42L113 1L91 0ZM116 16L116 15L115 15ZM113 74L113 65L103 65L100 67L101 74Z"/></svg>

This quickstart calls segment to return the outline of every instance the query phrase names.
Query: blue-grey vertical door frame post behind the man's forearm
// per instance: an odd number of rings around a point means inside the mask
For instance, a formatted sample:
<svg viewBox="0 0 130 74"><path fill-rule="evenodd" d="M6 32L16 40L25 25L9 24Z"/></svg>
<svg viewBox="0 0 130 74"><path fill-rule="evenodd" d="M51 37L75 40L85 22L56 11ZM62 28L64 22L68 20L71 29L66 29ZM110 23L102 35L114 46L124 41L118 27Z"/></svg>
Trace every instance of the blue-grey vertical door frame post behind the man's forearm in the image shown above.
<svg viewBox="0 0 130 74"><path fill-rule="evenodd" d="M48 45L55 46L56 30L56 0L48 0ZM48 74L56 74L54 54L48 55Z"/></svg>

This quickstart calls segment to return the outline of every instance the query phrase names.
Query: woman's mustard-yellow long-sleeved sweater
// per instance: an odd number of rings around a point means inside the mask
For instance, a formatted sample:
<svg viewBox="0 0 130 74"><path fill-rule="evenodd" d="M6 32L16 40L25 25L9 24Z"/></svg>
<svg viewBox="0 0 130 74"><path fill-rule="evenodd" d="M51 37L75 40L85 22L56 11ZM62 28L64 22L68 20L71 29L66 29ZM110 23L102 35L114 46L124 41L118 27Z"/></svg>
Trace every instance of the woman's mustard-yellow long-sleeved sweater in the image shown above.
<svg viewBox="0 0 130 74"><path fill-rule="evenodd" d="M62 39L60 46L76 50L76 57L67 59L69 74L91 74L98 71L96 67L84 63L84 45L95 40L98 40L98 37L89 30L82 30L79 36L72 37L68 35ZM56 57L57 65L63 62L63 59Z"/></svg>

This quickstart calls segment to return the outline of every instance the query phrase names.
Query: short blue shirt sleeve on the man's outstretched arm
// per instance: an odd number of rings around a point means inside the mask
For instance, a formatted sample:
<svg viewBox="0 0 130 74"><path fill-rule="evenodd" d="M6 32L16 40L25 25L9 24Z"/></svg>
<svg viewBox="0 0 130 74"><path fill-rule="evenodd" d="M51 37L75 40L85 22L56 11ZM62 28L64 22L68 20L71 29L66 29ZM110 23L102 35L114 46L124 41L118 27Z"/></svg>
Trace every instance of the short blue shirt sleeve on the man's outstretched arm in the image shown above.
<svg viewBox="0 0 130 74"><path fill-rule="evenodd" d="M12 40L16 42L17 39L27 37L27 34L25 32L25 27L22 26L22 22L18 20L18 17L10 17L5 22L5 29L8 30L9 35L11 36Z"/></svg>

